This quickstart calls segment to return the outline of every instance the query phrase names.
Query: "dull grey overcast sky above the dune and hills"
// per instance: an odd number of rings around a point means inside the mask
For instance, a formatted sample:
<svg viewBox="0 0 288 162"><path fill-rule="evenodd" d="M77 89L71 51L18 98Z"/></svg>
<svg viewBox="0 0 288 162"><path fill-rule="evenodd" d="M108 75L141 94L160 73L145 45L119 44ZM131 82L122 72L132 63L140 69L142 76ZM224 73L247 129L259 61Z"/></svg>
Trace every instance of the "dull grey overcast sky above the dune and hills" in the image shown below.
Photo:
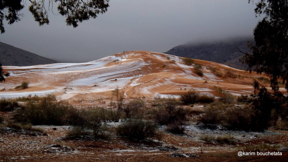
<svg viewBox="0 0 288 162"><path fill-rule="evenodd" d="M187 42L252 37L259 21L248 0L110 0L109 5L106 13L77 28L51 12L50 24L38 26L26 6L20 22L4 25L0 42L80 63L122 51L166 52Z"/></svg>

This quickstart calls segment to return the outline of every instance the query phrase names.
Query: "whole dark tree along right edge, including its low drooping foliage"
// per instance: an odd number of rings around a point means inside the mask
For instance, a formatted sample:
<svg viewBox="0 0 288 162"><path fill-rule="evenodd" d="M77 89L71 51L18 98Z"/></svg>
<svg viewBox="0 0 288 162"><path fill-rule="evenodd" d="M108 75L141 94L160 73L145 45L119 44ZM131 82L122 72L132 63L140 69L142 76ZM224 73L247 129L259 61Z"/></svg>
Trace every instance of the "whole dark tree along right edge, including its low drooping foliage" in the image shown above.
<svg viewBox="0 0 288 162"><path fill-rule="evenodd" d="M253 0L249 0L249 3ZM288 0L258 0L255 15L264 15L254 28L255 44L249 42L250 53L240 59L248 64L248 71L265 73L270 77L270 87L266 89L253 81L254 130L266 129L278 116L287 116L287 96L279 90L279 82L288 92ZM280 83L281 84L281 83Z"/></svg>

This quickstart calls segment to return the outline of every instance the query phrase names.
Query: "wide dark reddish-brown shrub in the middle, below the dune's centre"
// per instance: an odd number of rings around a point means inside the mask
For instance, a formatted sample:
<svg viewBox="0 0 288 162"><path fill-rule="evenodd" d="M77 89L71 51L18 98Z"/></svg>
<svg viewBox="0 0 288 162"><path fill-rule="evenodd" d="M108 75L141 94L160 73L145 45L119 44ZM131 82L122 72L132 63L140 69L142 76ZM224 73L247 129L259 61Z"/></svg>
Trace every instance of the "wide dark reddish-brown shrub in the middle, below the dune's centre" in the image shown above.
<svg viewBox="0 0 288 162"><path fill-rule="evenodd" d="M154 121L158 124L166 125L173 122L186 121L187 110L178 106L178 103L173 100L168 100L159 107L154 115Z"/></svg>

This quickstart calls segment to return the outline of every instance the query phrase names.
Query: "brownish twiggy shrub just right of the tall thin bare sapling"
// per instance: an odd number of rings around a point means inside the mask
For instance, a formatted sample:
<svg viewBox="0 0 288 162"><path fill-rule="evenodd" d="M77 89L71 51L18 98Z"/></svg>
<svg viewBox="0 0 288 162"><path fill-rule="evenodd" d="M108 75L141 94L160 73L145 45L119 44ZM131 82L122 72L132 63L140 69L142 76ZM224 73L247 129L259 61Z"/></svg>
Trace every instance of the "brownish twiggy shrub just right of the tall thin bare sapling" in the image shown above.
<svg viewBox="0 0 288 162"><path fill-rule="evenodd" d="M132 101L129 101L129 103L123 106L125 117L126 118L142 118L144 107L145 107L145 102L142 100L133 99Z"/></svg>

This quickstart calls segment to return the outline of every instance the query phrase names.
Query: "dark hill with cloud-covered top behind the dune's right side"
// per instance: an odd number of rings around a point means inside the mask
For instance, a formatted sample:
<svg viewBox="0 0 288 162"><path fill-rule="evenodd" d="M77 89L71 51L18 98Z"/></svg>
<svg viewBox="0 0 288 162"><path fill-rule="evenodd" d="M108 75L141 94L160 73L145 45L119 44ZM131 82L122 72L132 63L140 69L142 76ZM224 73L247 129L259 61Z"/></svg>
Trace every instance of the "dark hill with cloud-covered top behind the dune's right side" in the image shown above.
<svg viewBox="0 0 288 162"><path fill-rule="evenodd" d="M164 52L164 54L207 60L244 70L247 65L242 65L239 62L239 58L243 54L237 51L237 47L243 52L249 52L247 41L253 41L253 38L234 38L213 43L182 44L173 47L169 51Z"/></svg>

